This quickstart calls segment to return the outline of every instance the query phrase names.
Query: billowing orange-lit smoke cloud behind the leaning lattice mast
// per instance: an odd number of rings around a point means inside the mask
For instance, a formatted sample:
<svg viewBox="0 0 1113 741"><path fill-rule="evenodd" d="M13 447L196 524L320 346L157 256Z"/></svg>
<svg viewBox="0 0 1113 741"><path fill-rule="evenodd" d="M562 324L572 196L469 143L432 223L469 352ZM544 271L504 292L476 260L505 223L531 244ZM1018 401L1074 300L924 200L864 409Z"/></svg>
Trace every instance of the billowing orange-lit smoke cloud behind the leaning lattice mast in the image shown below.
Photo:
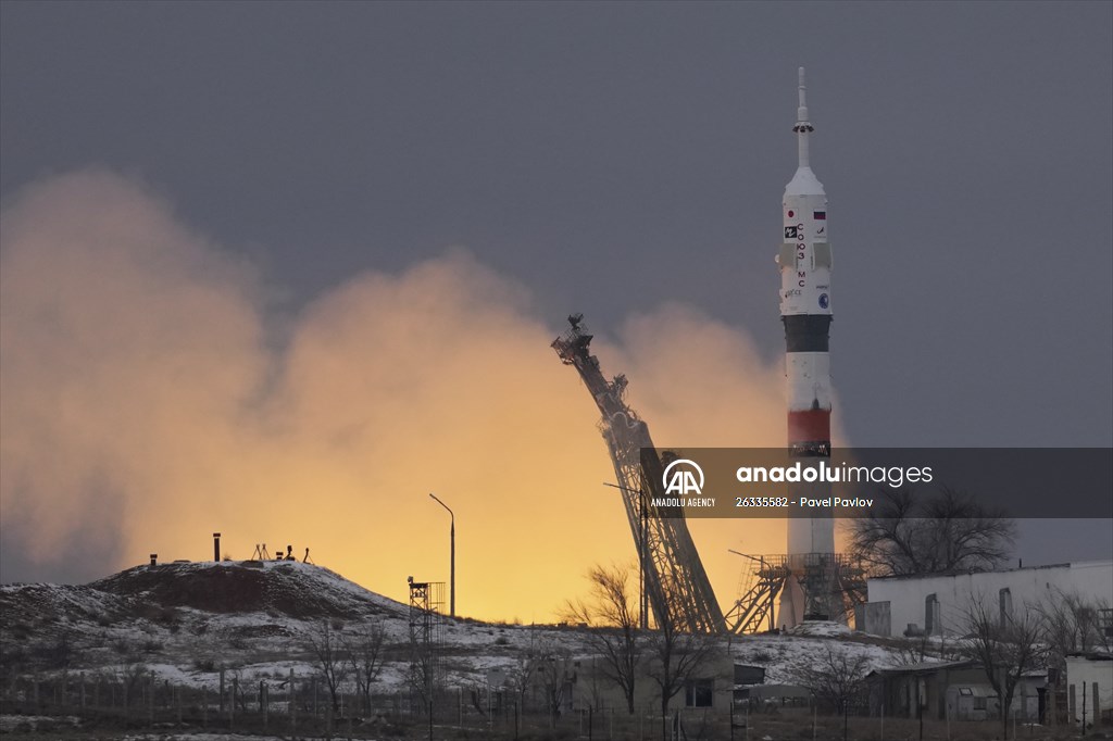
<svg viewBox="0 0 1113 741"><path fill-rule="evenodd" d="M368 589L447 581L457 611L551 620L633 543L595 407L529 290L463 249L366 271L277 318L245 259L131 180L28 187L0 221L3 581L290 544ZM313 246L307 245L307 254ZM772 278L771 278L772 279ZM589 317L590 319L590 317ZM280 340L276 339L280 338ZM594 348L658 445L779 445L779 362L666 304ZM720 601L784 524L698 521Z"/></svg>

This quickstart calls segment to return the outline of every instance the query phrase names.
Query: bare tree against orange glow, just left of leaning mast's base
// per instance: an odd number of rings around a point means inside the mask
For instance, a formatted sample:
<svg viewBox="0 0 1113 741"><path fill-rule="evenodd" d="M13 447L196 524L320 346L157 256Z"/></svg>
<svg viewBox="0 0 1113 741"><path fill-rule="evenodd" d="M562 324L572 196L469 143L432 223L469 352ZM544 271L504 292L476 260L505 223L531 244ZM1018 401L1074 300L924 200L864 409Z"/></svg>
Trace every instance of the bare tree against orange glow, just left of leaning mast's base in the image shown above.
<svg viewBox="0 0 1113 741"><path fill-rule="evenodd" d="M644 636L638 630L636 595L630 593L630 567L593 566L588 572L591 603L569 602L564 618L587 623L588 644L599 654L599 671L622 690L627 711L634 712L634 686L641 664Z"/></svg>

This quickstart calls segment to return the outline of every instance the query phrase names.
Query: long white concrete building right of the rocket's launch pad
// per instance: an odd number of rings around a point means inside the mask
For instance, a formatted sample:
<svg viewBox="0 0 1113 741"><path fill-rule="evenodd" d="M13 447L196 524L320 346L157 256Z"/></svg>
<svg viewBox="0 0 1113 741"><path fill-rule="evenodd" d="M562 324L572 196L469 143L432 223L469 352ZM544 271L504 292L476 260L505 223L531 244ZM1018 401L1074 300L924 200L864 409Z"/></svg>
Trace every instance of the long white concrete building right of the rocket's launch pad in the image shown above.
<svg viewBox="0 0 1113 741"><path fill-rule="evenodd" d="M1063 594L1113 603L1113 561L1064 563L933 576L887 576L867 582L869 600L855 625L874 635L955 635L981 600L1003 612L1050 603Z"/></svg>

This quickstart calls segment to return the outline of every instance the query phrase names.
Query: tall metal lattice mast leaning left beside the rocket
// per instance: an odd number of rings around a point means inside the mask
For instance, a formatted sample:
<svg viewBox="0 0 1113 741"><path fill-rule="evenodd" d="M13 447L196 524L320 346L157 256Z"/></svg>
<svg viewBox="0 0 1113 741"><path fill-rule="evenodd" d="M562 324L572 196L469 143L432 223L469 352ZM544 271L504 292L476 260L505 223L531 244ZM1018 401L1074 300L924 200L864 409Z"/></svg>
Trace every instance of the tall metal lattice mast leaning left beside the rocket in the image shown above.
<svg viewBox="0 0 1113 741"><path fill-rule="evenodd" d="M580 372L602 414L600 432L614 464L653 615L658 624L671 615L688 632L722 632L726 629L722 609L703 571L682 510L650 506L654 498L664 496L662 465L652 452L649 427L626 404L626 376L607 381L599 369L599 358L589 352L591 335L581 324L583 315L573 314L568 320L572 328L553 340L552 347L565 365ZM643 451L647 451L644 456Z"/></svg>

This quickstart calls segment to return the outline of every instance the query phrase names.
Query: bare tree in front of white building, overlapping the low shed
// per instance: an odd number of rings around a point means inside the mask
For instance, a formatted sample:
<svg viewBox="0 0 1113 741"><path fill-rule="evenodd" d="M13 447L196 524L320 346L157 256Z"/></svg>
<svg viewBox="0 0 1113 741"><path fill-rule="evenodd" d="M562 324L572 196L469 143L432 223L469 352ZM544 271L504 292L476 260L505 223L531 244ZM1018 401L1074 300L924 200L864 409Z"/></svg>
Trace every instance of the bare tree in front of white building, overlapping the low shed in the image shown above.
<svg viewBox="0 0 1113 741"><path fill-rule="evenodd" d="M964 652L982 665L996 691L1002 733L1007 733L1016 685L1025 672L1043 664L1044 623L1038 612L1027 605L1017 614L986 607L983 600L973 599L966 609L965 631Z"/></svg>

